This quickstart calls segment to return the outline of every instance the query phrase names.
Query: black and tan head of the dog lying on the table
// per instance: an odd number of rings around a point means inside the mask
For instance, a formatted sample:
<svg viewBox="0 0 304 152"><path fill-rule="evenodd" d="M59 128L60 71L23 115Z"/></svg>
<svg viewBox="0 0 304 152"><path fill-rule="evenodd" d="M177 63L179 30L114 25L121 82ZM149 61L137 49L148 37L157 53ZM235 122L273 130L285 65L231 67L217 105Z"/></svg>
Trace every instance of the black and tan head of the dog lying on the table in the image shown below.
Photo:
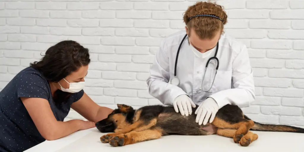
<svg viewBox="0 0 304 152"><path fill-rule="evenodd" d="M107 118L95 123L96 128L102 133L118 132L126 126L133 123L135 110L128 105L117 104L117 109L114 109Z"/></svg>

